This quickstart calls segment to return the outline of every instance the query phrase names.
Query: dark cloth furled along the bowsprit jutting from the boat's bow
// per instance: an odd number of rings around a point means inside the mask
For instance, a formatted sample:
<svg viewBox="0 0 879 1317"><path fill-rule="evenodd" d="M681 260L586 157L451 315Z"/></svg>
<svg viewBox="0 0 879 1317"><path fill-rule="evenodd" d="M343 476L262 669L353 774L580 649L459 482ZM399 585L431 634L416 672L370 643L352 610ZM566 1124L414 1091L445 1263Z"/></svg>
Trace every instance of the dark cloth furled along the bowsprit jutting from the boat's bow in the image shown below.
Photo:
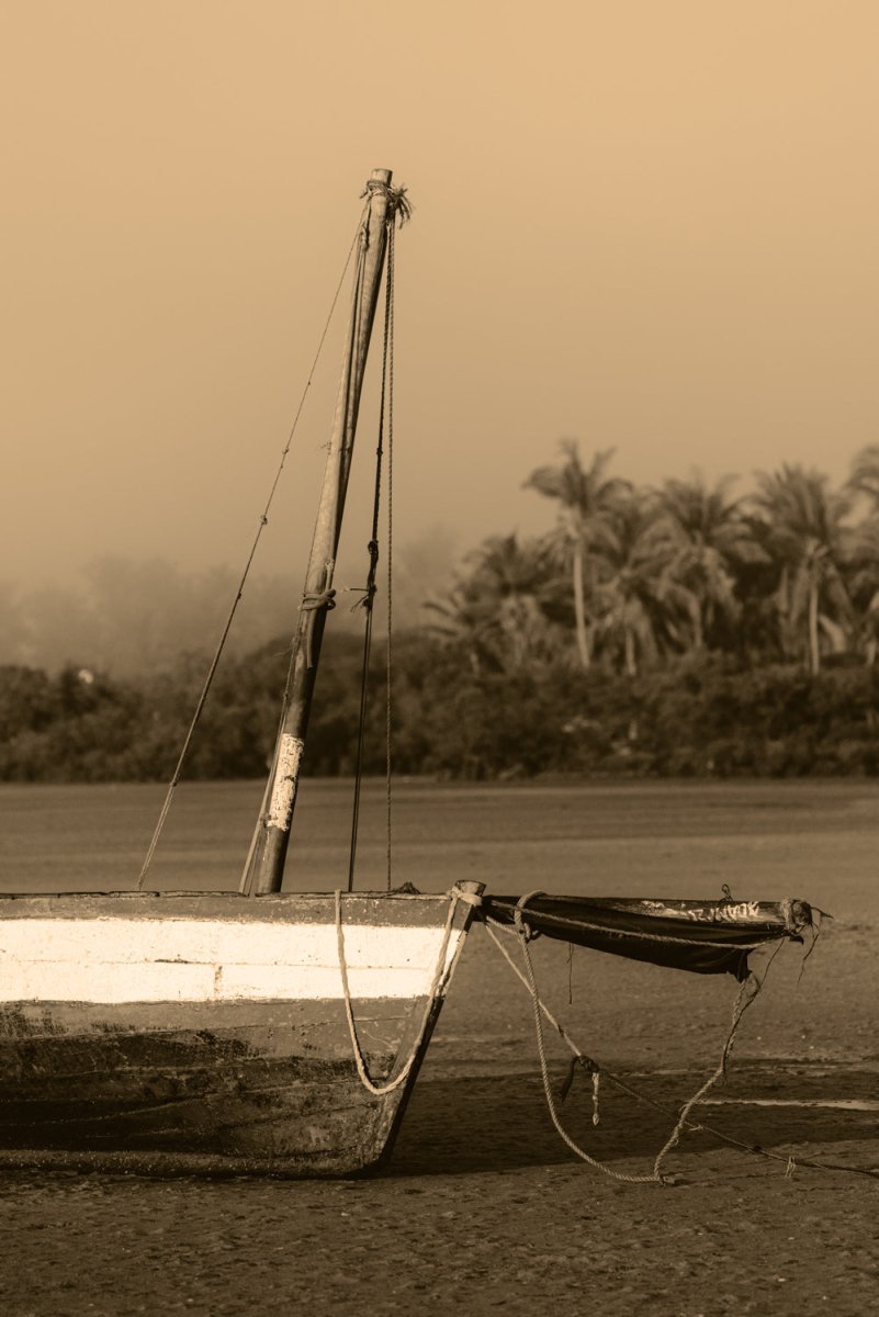
<svg viewBox="0 0 879 1317"><path fill-rule="evenodd" d="M484 896L482 914L522 923L533 934L630 960L730 973L741 982L747 956L767 942L803 942L813 928L805 901L628 901L616 897L553 897L536 893L524 907L517 897Z"/></svg>

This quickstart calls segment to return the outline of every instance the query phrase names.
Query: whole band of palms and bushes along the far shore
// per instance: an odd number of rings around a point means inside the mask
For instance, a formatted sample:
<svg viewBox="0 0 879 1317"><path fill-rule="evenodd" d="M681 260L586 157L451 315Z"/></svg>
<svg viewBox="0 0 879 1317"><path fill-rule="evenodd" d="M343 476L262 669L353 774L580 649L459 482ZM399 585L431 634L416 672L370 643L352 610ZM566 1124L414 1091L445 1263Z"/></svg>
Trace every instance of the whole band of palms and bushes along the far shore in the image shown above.
<svg viewBox="0 0 879 1317"><path fill-rule="evenodd" d="M879 772L879 448L842 489L797 466L636 489L563 445L528 483L557 529L487 540L449 597L395 641L399 772L801 774ZM286 643L221 669L188 774L261 774ZM375 666L384 655L376 648ZM328 640L313 773L351 770L361 641ZM167 778L204 656L149 677L0 668L0 778ZM368 770L384 764L383 682Z"/></svg>

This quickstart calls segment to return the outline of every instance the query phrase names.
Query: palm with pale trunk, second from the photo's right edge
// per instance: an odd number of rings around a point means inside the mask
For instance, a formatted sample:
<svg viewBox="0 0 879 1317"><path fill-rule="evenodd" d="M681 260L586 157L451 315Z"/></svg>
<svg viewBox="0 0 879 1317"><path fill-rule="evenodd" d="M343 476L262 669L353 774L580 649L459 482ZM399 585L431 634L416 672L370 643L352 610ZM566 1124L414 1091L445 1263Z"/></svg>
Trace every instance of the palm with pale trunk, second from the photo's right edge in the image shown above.
<svg viewBox="0 0 879 1317"><path fill-rule="evenodd" d="M841 645L851 599L843 579L851 531L850 498L828 487L828 477L801 466L759 473L751 527L779 569L776 610L792 635L804 626L809 672L821 666L821 631Z"/></svg>

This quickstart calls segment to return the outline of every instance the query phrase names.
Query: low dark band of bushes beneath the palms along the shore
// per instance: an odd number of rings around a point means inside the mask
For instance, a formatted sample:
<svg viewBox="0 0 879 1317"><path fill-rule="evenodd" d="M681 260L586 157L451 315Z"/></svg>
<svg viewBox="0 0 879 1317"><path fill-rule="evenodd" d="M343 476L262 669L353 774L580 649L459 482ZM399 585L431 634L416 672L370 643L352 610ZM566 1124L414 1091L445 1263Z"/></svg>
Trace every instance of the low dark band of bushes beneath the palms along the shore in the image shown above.
<svg viewBox="0 0 879 1317"><path fill-rule="evenodd" d="M329 637L328 637L329 639ZM362 641L325 645L304 770L347 774L357 753ZM186 776L259 777L274 745L288 664L283 643L217 676ZM384 652L367 705L367 773L384 770ZM139 682L86 669L55 678L0 669L0 780L167 781L204 662ZM424 635L395 648L393 763L401 773L503 780L580 777L792 777L879 773L879 673L837 666L738 668L690 657L636 678L568 665L474 672L455 647Z"/></svg>

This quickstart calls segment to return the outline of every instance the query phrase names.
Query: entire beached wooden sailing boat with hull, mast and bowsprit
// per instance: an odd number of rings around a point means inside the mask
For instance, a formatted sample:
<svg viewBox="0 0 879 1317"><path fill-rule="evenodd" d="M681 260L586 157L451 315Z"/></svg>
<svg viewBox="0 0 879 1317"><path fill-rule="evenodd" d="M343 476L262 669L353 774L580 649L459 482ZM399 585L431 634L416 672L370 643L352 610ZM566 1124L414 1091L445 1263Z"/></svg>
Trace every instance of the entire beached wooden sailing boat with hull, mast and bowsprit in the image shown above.
<svg viewBox="0 0 879 1317"><path fill-rule="evenodd" d="M808 905L793 901L521 898L483 896L475 882L425 896L408 885L354 892L351 880L346 892L282 890L367 350L405 209L388 170L374 171L366 195L303 603L242 888L0 896L0 1164L354 1175L389 1154L474 917L525 943L543 934L738 980L754 948L811 927ZM367 619L374 544L370 553Z"/></svg>

